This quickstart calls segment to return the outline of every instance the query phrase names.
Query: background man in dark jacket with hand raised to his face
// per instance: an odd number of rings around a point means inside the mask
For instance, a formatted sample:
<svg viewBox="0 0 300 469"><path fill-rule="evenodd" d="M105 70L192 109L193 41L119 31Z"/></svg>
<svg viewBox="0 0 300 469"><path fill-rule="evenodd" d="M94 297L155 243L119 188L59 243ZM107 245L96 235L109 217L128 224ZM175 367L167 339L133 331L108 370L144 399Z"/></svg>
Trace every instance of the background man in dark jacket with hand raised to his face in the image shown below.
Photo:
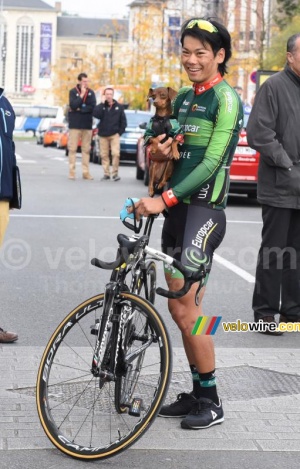
<svg viewBox="0 0 300 469"><path fill-rule="evenodd" d="M88 87L89 80L86 73L80 73L77 79L77 86L69 92L69 179L75 179L76 152L80 139L82 177L93 179L89 173L89 161L96 96Z"/></svg>

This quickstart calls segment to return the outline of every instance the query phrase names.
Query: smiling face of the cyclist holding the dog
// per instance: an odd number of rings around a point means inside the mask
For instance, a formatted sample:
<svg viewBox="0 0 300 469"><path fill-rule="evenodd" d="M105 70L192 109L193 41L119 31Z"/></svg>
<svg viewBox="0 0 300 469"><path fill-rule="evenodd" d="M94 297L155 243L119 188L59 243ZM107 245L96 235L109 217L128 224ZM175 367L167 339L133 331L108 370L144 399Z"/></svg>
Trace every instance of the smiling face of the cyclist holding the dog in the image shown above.
<svg viewBox="0 0 300 469"><path fill-rule="evenodd" d="M194 83L206 83L211 81L218 73L218 65L225 59L225 50L220 49L214 56L210 44L203 44L193 36L185 36L181 62Z"/></svg>

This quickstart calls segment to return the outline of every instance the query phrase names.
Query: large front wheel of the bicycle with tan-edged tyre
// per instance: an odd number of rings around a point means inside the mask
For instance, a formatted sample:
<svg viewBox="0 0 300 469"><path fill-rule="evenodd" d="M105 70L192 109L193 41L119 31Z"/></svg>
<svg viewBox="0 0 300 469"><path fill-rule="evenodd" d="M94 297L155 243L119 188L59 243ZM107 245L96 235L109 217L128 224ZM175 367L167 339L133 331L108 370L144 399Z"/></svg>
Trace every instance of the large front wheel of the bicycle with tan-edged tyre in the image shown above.
<svg viewBox="0 0 300 469"><path fill-rule="evenodd" d="M45 348L37 376L37 411L47 437L64 454L82 460L109 458L135 443L155 419L171 376L170 339L159 313L147 300L120 293L118 304L144 315L155 336L145 350L134 392L143 399L141 415L116 410L115 382L100 389L99 378L91 374L98 339L91 331L101 321L103 298L99 294L86 300L60 323Z"/></svg>

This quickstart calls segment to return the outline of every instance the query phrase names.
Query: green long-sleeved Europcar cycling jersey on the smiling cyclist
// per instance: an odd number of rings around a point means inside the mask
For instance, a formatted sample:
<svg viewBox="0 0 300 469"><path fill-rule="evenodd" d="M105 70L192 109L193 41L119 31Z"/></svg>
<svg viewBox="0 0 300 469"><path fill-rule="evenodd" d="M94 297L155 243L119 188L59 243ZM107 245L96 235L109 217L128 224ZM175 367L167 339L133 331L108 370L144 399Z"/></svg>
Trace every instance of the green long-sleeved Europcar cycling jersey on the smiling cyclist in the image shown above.
<svg viewBox="0 0 300 469"><path fill-rule="evenodd" d="M170 188L178 201L225 208L230 164L243 123L240 98L225 80L201 94L184 87L173 102L173 114L184 131L184 143Z"/></svg>

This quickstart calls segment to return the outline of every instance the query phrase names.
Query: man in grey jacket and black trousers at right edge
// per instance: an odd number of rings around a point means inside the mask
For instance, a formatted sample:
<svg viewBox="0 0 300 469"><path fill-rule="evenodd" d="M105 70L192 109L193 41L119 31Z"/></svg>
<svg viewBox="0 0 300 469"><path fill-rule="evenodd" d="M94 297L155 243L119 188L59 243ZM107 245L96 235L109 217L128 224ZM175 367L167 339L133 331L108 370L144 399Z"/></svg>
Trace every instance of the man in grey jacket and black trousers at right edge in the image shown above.
<svg viewBox="0 0 300 469"><path fill-rule="evenodd" d="M263 218L253 310L272 335L282 334L269 327L275 314L300 322L300 33L288 39L286 59L258 90L247 125L249 145L260 152Z"/></svg>

